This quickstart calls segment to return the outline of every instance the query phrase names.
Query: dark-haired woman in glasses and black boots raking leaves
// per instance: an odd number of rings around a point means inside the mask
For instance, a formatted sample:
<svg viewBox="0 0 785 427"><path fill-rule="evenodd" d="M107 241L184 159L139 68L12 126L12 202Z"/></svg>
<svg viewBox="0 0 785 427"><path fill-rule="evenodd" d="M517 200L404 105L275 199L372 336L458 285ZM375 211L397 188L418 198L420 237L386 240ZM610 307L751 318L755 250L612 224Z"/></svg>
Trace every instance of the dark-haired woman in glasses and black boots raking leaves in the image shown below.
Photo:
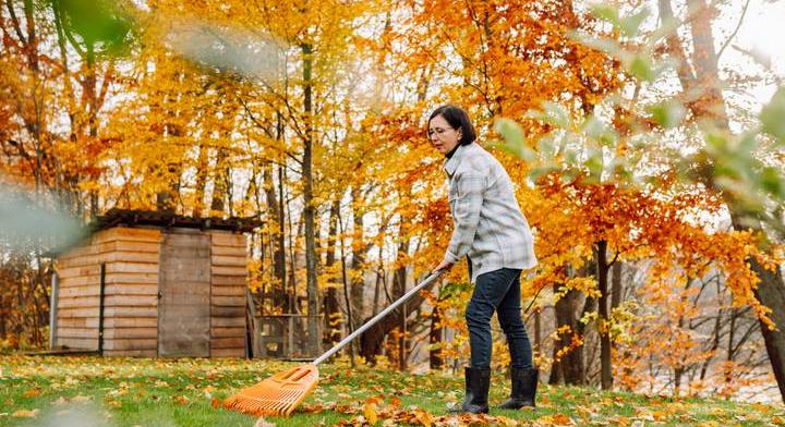
<svg viewBox="0 0 785 427"><path fill-rule="evenodd" d="M455 412L487 413L491 382L491 317L497 312L510 352L512 391L502 408L534 406L538 369L521 318L521 270L536 265L532 235L502 164L478 145L474 127L461 108L437 108L427 136L445 155L454 231L444 260L434 272L463 256L474 292L467 305L471 366L466 368L466 399Z"/></svg>

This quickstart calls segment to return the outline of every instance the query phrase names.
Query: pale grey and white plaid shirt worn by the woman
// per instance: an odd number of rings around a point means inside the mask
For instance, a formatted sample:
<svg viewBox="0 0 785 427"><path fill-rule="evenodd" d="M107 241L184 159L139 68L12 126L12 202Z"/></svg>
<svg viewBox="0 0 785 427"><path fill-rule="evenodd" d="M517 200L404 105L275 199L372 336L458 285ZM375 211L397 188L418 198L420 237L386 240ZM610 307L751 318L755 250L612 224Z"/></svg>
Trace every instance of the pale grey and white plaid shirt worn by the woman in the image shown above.
<svg viewBox="0 0 785 427"><path fill-rule="evenodd" d="M529 222L518 206L502 163L476 143L461 145L445 161L452 213L452 237L444 260L464 255L471 282L500 268L528 269L538 261Z"/></svg>

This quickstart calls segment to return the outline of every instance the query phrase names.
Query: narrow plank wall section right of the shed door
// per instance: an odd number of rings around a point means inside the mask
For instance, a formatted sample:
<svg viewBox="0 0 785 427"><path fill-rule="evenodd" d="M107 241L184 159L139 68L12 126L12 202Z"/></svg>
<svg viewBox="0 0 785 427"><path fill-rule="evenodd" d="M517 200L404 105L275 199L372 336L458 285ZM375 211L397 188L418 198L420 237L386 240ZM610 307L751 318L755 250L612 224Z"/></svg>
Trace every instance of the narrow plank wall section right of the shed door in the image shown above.
<svg viewBox="0 0 785 427"><path fill-rule="evenodd" d="M245 355L245 235L210 232L210 356Z"/></svg>

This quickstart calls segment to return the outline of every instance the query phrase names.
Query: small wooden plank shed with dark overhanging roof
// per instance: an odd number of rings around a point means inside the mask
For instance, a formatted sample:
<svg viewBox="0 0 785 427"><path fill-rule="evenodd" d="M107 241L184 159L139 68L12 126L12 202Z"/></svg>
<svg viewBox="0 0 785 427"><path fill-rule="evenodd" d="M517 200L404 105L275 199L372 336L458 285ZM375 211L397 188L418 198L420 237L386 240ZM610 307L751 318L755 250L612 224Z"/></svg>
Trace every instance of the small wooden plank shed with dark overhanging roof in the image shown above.
<svg viewBox="0 0 785 427"><path fill-rule="evenodd" d="M246 354L247 219L111 210L56 257L52 346L107 356Z"/></svg>

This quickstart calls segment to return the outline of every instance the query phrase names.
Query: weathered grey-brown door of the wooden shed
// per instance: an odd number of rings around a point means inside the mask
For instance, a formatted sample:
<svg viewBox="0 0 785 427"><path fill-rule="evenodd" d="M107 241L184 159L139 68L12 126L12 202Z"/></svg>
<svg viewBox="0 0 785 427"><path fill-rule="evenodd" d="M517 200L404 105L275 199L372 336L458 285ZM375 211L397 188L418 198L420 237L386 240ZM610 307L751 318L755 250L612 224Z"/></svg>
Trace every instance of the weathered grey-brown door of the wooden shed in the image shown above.
<svg viewBox="0 0 785 427"><path fill-rule="evenodd" d="M158 355L208 357L209 234L164 234L159 274Z"/></svg>

